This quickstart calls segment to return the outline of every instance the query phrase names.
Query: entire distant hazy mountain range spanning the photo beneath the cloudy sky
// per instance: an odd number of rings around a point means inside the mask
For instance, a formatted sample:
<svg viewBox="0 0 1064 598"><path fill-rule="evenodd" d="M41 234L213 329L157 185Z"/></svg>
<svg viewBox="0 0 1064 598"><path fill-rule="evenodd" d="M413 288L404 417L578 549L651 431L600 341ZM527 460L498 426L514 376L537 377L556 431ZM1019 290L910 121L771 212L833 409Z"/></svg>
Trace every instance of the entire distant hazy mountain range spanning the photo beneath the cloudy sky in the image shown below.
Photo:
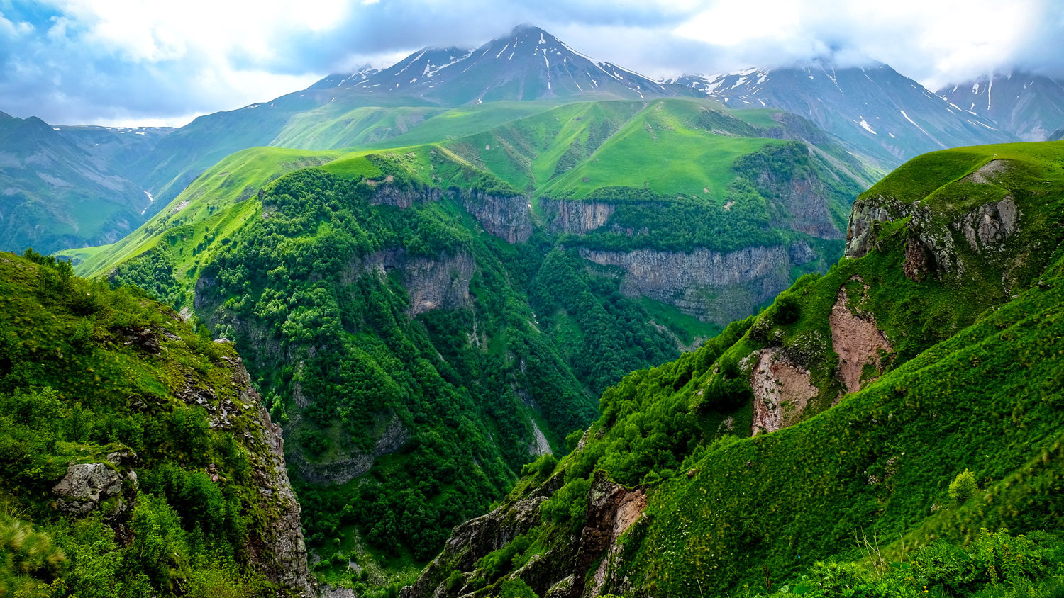
<svg viewBox="0 0 1064 598"><path fill-rule="evenodd" d="M39 134L13 134L0 152L7 156L0 163L0 247L54 251L116 240L213 165L247 148L426 142L471 132L464 124L450 133L434 120L454 110L487 131L564 103L668 97L794 113L880 172L931 150L1047 139L1064 129L1064 87L1044 76L996 75L937 93L887 65L818 64L653 81L520 25L479 48L425 48L383 70L330 74L301 91L202 116L172 132L49 126L33 119ZM4 119L0 127L14 131L17 120ZM51 158L26 161L37 152Z"/></svg>

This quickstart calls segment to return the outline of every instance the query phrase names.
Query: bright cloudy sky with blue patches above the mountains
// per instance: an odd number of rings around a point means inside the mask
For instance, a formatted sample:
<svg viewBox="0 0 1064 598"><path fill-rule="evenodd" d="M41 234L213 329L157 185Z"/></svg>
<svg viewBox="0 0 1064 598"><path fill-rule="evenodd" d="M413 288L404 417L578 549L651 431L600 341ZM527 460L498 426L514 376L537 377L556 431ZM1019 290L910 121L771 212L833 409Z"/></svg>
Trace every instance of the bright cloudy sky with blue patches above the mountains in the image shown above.
<svg viewBox="0 0 1064 598"><path fill-rule="evenodd" d="M817 58L879 61L932 90L1064 76L1064 0L0 0L0 112L180 126L519 23L654 78Z"/></svg>

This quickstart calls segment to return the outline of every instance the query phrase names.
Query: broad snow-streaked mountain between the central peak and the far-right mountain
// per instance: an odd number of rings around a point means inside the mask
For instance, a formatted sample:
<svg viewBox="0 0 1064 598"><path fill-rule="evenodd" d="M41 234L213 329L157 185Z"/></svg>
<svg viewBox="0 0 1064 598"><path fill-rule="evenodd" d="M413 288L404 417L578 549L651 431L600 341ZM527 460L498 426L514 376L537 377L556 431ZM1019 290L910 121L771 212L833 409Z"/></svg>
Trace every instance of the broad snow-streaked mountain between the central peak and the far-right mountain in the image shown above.
<svg viewBox="0 0 1064 598"><path fill-rule="evenodd" d="M882 64L751 68L667 83L731 107L766 106L802 116L884 167L928 151L1016 140L993 121L950 104Z"/></svg>

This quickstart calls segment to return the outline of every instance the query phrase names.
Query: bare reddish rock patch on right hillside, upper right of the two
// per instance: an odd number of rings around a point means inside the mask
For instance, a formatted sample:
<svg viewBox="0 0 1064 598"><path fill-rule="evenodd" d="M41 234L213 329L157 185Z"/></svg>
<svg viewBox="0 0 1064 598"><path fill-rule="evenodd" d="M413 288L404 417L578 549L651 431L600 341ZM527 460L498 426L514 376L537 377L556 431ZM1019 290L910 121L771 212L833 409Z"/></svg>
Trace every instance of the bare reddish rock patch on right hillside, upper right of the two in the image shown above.
<svg viewBox="0 0 1064 598"><path fill-rule="evenodd" d="M847 392L861 390L865 365L882 373L883 357L894 348L876 326L876 318L850 306L846 289L838 289L838 297L828 315L831 325L831 345L838 355L838 377Z"/></svg>

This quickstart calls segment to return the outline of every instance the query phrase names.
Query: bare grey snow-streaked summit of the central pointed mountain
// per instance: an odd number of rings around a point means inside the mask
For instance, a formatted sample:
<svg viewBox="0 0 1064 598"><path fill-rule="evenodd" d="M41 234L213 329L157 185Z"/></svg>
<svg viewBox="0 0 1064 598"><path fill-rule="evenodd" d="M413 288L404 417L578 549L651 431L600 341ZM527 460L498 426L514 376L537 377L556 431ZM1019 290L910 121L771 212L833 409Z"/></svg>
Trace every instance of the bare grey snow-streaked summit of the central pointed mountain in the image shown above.
<svg viewBox="0 0 1064 598"><path fill-rule="evenodd" d="M423 48L380 72L367 72L332 74L315 87L415 96L446 105L578 95L621 99L675 95L642 74L597 63L529 24L475 50Z"/></svg>

